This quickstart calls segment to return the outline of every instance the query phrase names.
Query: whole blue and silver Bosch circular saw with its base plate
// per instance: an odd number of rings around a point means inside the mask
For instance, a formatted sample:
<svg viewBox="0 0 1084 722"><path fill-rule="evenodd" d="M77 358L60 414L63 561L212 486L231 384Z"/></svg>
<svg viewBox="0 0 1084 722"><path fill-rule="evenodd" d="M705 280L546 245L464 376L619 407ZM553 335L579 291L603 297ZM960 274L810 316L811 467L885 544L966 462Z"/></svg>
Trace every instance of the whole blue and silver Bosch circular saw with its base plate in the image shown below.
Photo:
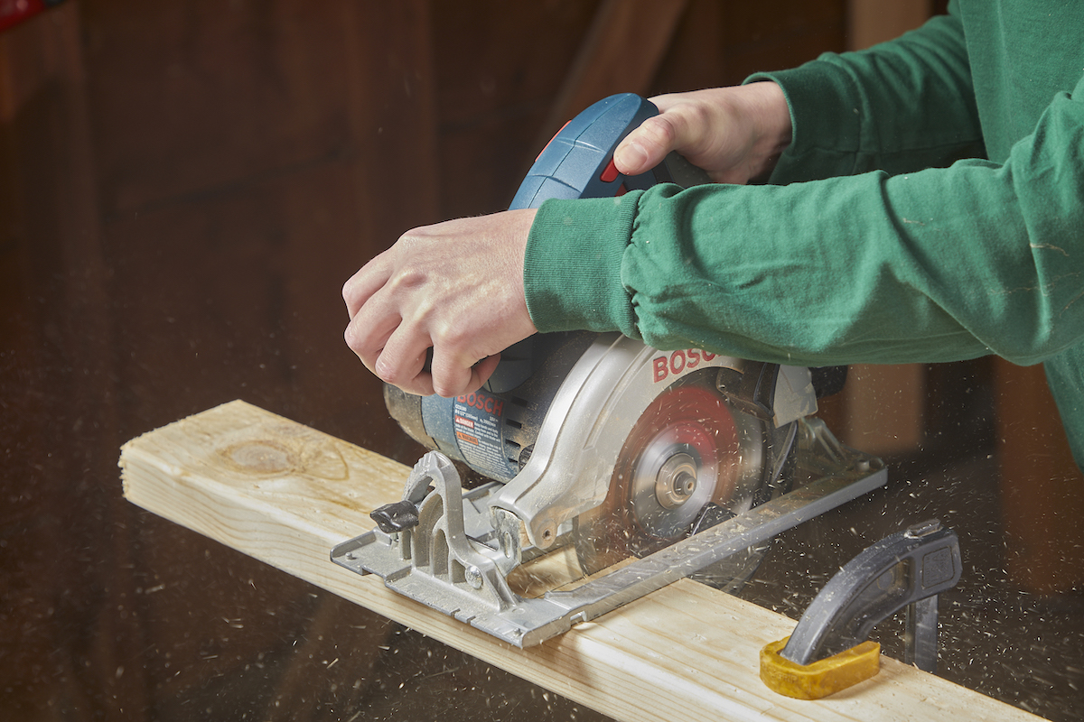
<svg viewBox="0 0 1084 722"><path fill-rule="evenodd" d="M512 208L709 182L676 154L618 172L614 149L657 113L633 94L591 106L539 155ZM886 481L811 418L831 377L570 332L506 350L474 393L385 386L391 416L434 451L403 498L373 512L378 528L332 560L520 646L683 576L733 590L775 535ZM492 481L464 491L454 462ZM541 596L509 583L556 550L596 576Z"/></svg>

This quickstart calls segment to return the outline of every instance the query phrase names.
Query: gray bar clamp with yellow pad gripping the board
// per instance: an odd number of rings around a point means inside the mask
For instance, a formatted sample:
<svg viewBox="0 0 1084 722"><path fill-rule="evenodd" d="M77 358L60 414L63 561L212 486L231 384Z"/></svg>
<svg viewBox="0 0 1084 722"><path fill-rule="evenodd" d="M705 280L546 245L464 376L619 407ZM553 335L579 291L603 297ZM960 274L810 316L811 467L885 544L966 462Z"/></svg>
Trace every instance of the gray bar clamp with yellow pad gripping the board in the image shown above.
<svg viewBox="0 0 1084 722"><path fill-rule="evenodd" d="M788 697L818 699L874 677L880 621L907 608L904 661L937 671L938 594L959 581L956 533L937 520L888 536L825 585L790 636L760 653L760 678Z"/></svg>

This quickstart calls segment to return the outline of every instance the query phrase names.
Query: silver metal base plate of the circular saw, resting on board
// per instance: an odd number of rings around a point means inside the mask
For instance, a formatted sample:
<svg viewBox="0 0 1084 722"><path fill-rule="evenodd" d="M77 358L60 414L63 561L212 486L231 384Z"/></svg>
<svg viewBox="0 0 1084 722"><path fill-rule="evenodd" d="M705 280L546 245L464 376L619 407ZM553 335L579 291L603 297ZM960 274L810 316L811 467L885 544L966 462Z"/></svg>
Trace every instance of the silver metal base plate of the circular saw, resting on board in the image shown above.
<svg viewBox="0 0 1084 722"><path fill-rule="evenodd" d="M485 497L492 489L480 487L464 496L459 473L439 452L423 457L408 480L408 495L434 487L425 497L429 509L421 507L420 524L350 539L332 550L332 561L358 574L377 574L389 588L509 644L532 646L886 483L880 460L842 447L817 419L800 424L798 464L816 472L809 484L643 559L618 564L571 590L525 598L509 587L509 573L538 556L538 550L520 544L515 517L499 514L495 528L483 518L489 515ZM566 531L546 554L567 547Z"/></svg>

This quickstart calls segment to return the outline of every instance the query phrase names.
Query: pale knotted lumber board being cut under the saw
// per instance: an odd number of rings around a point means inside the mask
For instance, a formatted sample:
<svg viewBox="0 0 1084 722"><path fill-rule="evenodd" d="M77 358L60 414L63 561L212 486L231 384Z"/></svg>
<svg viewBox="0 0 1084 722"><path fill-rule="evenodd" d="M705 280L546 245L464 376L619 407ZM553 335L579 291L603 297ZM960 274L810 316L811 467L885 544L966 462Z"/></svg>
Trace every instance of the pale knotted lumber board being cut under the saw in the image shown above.
<svg viewBox="0 0 1084 722"><path fill-rule="evenodd" d="M776 695L758 654L793 622L688 580L513 647L328 560L399 498L405 467L243 402L129 442L120 467L133 503L619 720L1038 719L889 658L827 699Z"/></svg>

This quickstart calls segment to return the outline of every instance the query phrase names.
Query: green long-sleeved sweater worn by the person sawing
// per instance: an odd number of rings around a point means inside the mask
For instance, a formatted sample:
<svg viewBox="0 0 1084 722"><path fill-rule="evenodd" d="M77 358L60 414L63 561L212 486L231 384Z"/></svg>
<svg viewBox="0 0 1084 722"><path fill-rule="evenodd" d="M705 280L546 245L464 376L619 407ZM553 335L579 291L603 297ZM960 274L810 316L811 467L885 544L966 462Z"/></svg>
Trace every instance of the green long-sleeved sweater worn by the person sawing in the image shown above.
<svg viewBox="0 0 1084 722"><path fill-rule="evenodd" d="M770 185L544 204L539 330L811 366L1042 362L1084 461L1084 3L950 11L750 78L793 121Z"/></svg>

